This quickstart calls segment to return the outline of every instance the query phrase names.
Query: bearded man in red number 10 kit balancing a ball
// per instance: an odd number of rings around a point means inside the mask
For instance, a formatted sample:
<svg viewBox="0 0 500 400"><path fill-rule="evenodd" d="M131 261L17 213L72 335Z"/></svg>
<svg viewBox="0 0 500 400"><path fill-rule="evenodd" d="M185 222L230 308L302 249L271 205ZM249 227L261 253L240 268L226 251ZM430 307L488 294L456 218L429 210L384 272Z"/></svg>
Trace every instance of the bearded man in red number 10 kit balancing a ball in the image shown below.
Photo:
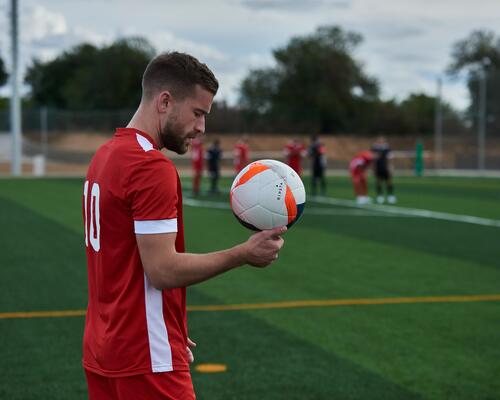
<svg viewBox="0 0 500 400"><path fill-rule="evenodd" d="M154 58L126 128L101 146L83 188L88 308L83 366L89 399L194 399L188 285L278 257L286 228L230 249L185 253L182 190L160 152L187 152L205 131L218 82L183 53Z"/></svg>

